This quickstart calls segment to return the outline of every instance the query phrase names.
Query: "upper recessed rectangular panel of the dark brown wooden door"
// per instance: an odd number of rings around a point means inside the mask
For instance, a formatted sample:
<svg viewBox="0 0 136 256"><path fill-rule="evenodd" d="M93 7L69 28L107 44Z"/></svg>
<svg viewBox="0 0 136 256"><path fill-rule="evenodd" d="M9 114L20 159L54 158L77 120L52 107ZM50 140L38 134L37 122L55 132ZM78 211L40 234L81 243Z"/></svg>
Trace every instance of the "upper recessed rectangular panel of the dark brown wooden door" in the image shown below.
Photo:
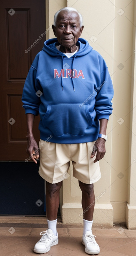
<svg viewBox="0 0 136 256"><path fill-rule="evenodd" d="M13 16L6 10L9 80L25 79L30 67L29 54L24 54L30 45L30 9L14 10Z"/></svg>

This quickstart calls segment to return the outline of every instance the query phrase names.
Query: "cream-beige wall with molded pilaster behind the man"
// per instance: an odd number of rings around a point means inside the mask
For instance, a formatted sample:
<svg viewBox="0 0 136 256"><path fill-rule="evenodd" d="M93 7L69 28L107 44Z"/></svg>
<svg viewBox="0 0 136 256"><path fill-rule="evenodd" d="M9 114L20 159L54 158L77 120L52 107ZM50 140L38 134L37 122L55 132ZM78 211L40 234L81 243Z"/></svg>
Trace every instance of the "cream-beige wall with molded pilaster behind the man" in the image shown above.
<svg viewBox="0 0 136 256"><path fill-rule="evenodd" d="M103 56L114 86L109 140L100 161L102 178L95 183L94 224L111 227L127 221L128 228L136 228L136 0L46 0L47 29L53 24L55 12L65 6L82 14L81 37ZM53 37L50 30L47 39ZM72 177L72 167L69 174L61 190L63 223L82 223L81 191Z"/></svg>

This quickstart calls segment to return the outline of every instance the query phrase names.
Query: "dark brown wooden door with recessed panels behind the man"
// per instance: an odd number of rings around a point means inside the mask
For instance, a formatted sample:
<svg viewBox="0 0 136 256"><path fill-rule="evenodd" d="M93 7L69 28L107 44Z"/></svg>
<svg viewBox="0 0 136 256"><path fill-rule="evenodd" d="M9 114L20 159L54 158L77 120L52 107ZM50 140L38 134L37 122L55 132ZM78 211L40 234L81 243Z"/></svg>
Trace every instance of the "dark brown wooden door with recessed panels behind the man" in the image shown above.
<svg viewBox="0 0 136 256"><path fill-rule="evenodd" d="M45 0L0 2L0 160L24 161L26 116L22 108L25 78L46 40ZM38 142L39 116L34 121Z"/></svg>

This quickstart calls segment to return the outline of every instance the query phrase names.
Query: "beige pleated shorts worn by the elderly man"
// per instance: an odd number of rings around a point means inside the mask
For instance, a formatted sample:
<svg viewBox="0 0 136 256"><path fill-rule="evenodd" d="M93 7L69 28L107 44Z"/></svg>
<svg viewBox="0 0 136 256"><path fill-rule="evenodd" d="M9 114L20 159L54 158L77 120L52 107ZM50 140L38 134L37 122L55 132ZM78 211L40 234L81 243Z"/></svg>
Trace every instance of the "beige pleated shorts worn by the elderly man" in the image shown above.
<svg viewBox="0 0 136 256"><path fill-rule="evenodd" d="M99 162L90 158L95 142L58 144L40 140L40 176L49 183L58 183L66 178L73 164L73 176L83 183L91 184L101 178Z"/></svg>

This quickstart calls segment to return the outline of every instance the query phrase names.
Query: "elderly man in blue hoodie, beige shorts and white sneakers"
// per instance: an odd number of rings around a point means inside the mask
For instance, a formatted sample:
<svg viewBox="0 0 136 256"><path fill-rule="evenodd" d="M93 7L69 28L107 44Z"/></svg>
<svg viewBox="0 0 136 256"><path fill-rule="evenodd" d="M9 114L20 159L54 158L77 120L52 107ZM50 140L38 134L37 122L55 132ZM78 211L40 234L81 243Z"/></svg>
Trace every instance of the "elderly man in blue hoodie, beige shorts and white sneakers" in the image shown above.
<svg viewBox="0 0 136 256"><path fill-rule="evenodd" d="M113 86L101 55L85 39L79 39L83 25L77 10L59 10L52 28L56 38L47 40L35 57L22 98L27 118L27 152L37 163L40 148L39 174L46 180L48 229L40 233L34 252L47 253L58 243L59 190L71 160L73 176L82 191L82 244L87 254L98 254L99 246L91 230L93 183L101 178L98 161L105 154ZM39 148L32 132L38 113Z"/></svg>

